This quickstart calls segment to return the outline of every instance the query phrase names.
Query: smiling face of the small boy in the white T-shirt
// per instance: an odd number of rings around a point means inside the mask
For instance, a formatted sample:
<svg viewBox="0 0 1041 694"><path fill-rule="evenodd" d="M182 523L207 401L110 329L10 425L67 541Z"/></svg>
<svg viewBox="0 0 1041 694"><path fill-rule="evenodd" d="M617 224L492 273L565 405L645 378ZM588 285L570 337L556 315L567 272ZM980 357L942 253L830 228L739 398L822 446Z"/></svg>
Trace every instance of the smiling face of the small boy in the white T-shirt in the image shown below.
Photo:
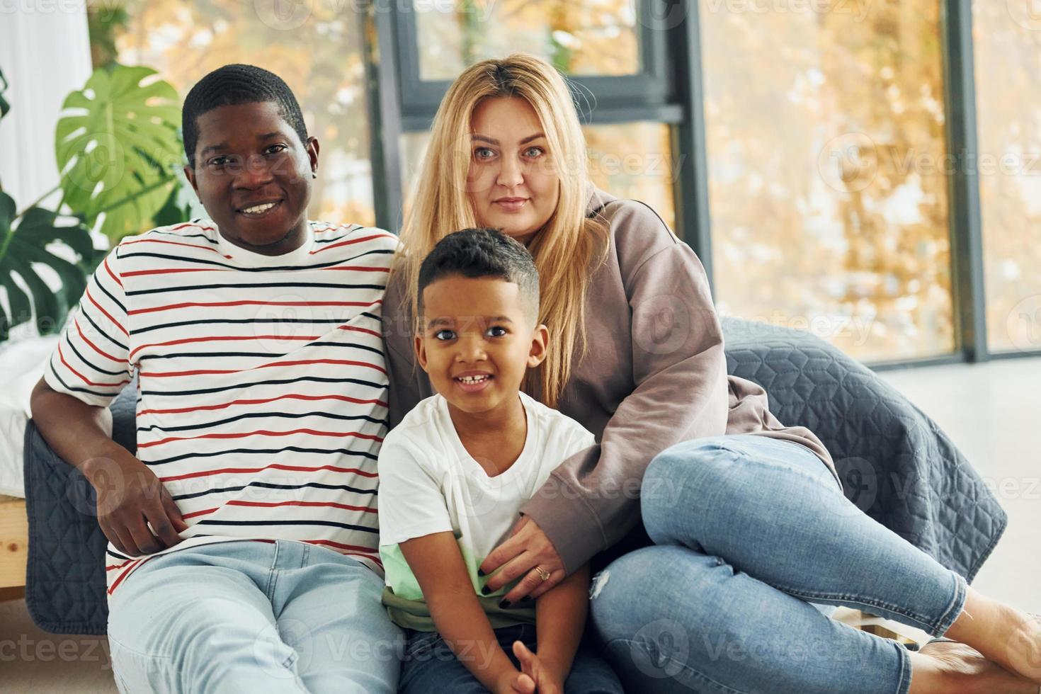
<svg viewBox="0 0 1041 694"><path fill-rule="evenodd" d="M513 416L525 372L542 362L548 338L545 326L526 314L519 287L496 277L445 277L423 290L422 319L416 356L453 418Z"/></svg>

